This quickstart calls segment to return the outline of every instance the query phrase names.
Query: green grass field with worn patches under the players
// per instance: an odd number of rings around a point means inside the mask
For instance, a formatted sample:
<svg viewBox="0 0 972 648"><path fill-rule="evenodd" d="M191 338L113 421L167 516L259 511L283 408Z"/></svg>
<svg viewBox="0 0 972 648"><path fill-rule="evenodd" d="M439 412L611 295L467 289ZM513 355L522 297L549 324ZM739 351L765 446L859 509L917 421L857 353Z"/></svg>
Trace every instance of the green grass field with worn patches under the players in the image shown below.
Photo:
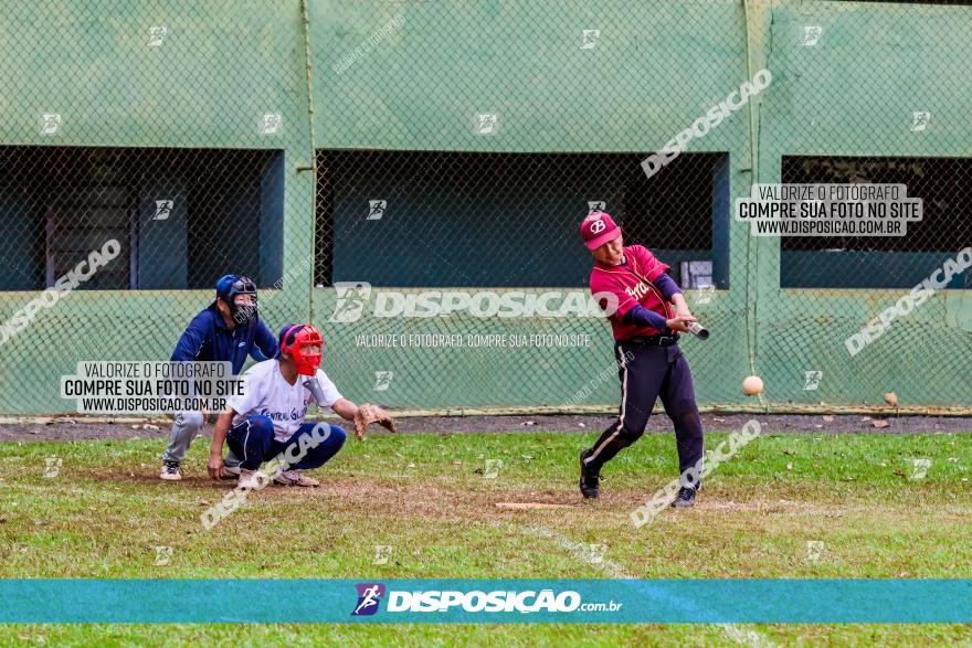
<svg viewBox="0 0 972 648"><path fill-rule="evenodd" d="M211 531L232 484L204 477L208 439L160 482L160 443L0 445L2 577L945 577L972 576L972 435L764 435L718 467L698 506L635 530L628 513L675 476L649 435L575 488L592 434L350 439L318 489L272 488ZM725 435L710 434L712 447ZM63 460L43 477L46 457ZM911 459L931 459L910 479ZM486 459L501 459L497 479ZM964 479L964 481L963 481ZM508 510L497 502L568 509ZM807 541L822 541L818 561ZM603 562L579 545L606 544ZM392 545L374 565L374 545ZM155 546L173 548L154 564ZM213 604L219 605L214 593ZM0 628L0 644L67 645L972 645L969 626L114 625ZM756 640L743 635L756 630ZM758 644L759 642L759 644Z"/></svg>

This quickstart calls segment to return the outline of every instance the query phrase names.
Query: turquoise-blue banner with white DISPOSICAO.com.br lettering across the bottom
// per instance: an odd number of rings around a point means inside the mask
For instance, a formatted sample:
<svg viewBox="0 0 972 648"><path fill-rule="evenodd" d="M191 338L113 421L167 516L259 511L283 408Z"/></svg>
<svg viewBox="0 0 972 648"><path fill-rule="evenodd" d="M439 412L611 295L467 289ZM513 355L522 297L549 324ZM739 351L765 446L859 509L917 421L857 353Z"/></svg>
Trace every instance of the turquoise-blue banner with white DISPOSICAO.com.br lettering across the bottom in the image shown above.
<svg viewBox="0 0 972 648"><path fill-rule="evenodd" d="M0 580L0 623L972 623L972 580Z"/></svg>

